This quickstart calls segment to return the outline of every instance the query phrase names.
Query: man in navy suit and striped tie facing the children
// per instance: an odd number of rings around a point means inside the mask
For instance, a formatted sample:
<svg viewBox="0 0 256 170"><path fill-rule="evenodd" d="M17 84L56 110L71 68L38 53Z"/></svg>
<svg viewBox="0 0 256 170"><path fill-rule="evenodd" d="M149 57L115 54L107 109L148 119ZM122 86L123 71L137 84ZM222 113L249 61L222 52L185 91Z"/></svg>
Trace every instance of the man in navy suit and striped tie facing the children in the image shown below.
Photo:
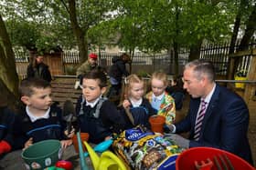
<svg viewBox="0 0 256 170"><path fill-rule="evenodd" d="M189 138L170 135L182 147L209 146L239 155L251 165L247 131L249 110L243 99L215 83L214 65L195 60L185 65L184 88L191 100L186 118L169 125L172 133L189 132Z"/></svg>

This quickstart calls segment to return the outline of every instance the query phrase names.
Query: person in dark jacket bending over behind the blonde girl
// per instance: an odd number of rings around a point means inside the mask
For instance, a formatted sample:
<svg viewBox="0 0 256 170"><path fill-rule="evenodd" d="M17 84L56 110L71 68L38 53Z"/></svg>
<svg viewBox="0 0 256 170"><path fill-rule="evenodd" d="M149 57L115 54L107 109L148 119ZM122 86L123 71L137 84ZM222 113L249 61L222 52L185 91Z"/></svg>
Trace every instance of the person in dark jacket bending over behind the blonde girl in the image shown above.
<svg viewBox="0 0 256 170"><path fill-rule="evenodd" d="M107 97L111 97L112 95L120 95L120 90L122 88L122 77L123 75L130 75L126 70L125 64L130 62L131 58L127 54L112 58L112 66L109 70L111 88L107 94Z"/></svg>

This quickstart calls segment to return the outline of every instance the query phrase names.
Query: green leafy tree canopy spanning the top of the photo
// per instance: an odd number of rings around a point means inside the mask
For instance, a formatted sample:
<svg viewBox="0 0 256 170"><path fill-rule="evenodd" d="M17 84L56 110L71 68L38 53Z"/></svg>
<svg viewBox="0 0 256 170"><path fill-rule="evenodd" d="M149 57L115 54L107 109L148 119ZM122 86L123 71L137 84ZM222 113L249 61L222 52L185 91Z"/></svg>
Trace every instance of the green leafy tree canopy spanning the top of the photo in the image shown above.
<svg viewBox="0 0 256 170"><path fill-rule="evenodd" d="M20 25L27 25L8 26L13 29L12 42L34 44L40 49L48 49L50 44L68 48L78 45L70 25L69 2L73 1L9 0L0 5L8 21L15 18ZM245 1L75 1L79 29L91 48L117 44L130 52L135 48L160 52L174 43L184 47L201 40L215 43L229 38L242 2ZM242 21L251 13L252 2L244 6ZM19 31L23 33L16 34ZM21 39L24 42L20 43Z"/></svg>

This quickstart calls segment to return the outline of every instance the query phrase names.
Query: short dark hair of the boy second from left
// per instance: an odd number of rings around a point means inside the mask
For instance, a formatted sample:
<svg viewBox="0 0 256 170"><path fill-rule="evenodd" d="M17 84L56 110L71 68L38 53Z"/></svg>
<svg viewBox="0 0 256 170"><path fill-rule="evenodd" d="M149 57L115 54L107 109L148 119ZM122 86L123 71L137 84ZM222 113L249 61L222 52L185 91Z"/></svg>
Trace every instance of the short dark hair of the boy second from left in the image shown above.
<svg viewBox="0 0 256 170"><path fill-rule="evenodd" d="M97 79L100 81L99 86L105 87L108 86L107 85L107 76L105 75L105 73L101 70L101 69L93 69L90 72L86 73L85 75L82 76L82 79Z"/></svg>

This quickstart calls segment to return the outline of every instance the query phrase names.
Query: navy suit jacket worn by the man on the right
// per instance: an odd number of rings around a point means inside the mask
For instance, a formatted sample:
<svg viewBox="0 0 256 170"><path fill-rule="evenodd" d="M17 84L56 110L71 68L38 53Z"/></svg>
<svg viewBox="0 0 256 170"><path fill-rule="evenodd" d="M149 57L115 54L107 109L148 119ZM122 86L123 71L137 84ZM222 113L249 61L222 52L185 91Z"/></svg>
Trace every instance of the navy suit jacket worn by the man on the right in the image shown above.
<svg viewBox="0 0 256 170"><path fill-rule="evenodd" d="M176 124L176 133L190 132L189 147L209 146L239 155L252 165L247 131L249 110L243 99L216 85L204 117L198 141L193 140L200 98L191 98L186 118Z"/></svg>

